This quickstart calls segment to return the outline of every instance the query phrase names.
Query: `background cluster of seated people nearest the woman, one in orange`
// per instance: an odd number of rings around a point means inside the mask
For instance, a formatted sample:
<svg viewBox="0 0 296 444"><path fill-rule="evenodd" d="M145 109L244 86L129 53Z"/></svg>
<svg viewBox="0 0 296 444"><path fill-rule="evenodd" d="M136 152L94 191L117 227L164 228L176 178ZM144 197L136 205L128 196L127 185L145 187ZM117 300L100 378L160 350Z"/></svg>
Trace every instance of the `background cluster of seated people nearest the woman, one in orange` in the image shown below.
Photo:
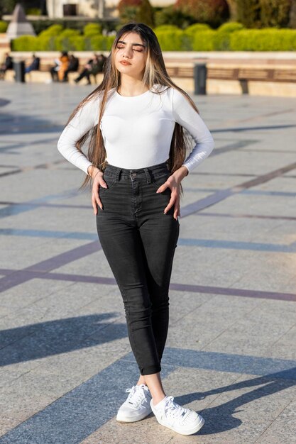
<svg viewBox="0 0 296 444"><path fill-rule="evenodd" d="M93 75L94 80L96 80L96 75L99 74L99 72L103 72L105 62L106 57L103 54L94 54L94 57L89 59L82 68L79 76L75 79L75 83L80 82L81 79L86 77L87 84L91 84L90 76ZM68 82L69 72L77 72L79 65L79 60L75 55L62 52L60 57L55 59L55 65L50 68L53 82Z"/></svg>

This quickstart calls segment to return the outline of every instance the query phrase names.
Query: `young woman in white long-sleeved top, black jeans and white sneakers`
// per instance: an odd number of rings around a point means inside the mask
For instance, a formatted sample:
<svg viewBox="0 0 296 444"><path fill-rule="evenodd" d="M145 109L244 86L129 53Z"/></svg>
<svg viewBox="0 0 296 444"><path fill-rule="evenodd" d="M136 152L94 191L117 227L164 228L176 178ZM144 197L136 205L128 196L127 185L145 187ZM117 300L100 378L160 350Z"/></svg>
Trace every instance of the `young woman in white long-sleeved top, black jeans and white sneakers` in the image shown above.
<svg viewBox="0 0 296 444"><path fill-rule="evenodd" d="M194 139L190 155L183 128ZM72 113L58 149L87 174L84 184L92 179L99 240L122 294L140 370L116 418L139 421L153 411L163 426L196 433L204 419L166 396L160 361L168 333L180 184L210 154L213 139L190 96L168 76L148 26L129 23L119 30L102 83Z"/></svg>

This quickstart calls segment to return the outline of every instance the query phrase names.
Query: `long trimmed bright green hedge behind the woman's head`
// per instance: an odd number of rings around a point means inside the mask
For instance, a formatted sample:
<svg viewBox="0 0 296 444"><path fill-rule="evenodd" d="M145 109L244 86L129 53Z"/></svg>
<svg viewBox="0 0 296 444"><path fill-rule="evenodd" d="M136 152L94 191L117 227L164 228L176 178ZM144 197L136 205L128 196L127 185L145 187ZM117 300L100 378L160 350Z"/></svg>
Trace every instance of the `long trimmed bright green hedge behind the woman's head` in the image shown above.
<svg viewBox="0 0 296 444"><path fill-rule="evenodd" d="M114 35L99 33L97 24L89 24L84 35L60 25L50 26L37 37L23 35L12 42L13 51L99 51L110 50ZM163 51L293 51L296 50L294 29L245 29L240 23L225 23L217 30L194 24L185 30L175 26L155 28Z"/></svg>

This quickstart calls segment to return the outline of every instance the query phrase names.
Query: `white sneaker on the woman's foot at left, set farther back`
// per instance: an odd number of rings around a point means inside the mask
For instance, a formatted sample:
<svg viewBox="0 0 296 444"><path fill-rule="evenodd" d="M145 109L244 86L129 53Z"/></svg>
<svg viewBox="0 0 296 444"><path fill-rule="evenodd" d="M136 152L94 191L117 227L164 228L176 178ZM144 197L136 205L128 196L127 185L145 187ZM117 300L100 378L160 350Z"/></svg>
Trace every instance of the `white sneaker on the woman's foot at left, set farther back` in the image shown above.
<svg viewBox="0 0 296 444"><path fill-rule="evenodd" d="M128 398L119 407L116 419L125 423L140 421L148 416L152 409L150 407L151 395L145 384L134 385L129 392Z"/></svg>

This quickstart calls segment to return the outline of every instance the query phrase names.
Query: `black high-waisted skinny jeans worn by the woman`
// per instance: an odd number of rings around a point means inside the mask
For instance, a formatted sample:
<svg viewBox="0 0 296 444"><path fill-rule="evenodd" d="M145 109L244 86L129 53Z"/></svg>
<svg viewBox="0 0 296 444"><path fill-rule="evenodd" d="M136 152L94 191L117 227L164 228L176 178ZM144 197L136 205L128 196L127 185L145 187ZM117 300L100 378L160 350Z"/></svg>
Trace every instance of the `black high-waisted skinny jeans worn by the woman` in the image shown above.
<svg viewBox="0 0 296 444"><path fill-rule="evenodd" d="M107 165L100 187L97 230L124 301L128 338L141 374L160 372L168 334L168 289L179 235L173 208L164 214L170 189L166 164L141 170Z"/></svg>

